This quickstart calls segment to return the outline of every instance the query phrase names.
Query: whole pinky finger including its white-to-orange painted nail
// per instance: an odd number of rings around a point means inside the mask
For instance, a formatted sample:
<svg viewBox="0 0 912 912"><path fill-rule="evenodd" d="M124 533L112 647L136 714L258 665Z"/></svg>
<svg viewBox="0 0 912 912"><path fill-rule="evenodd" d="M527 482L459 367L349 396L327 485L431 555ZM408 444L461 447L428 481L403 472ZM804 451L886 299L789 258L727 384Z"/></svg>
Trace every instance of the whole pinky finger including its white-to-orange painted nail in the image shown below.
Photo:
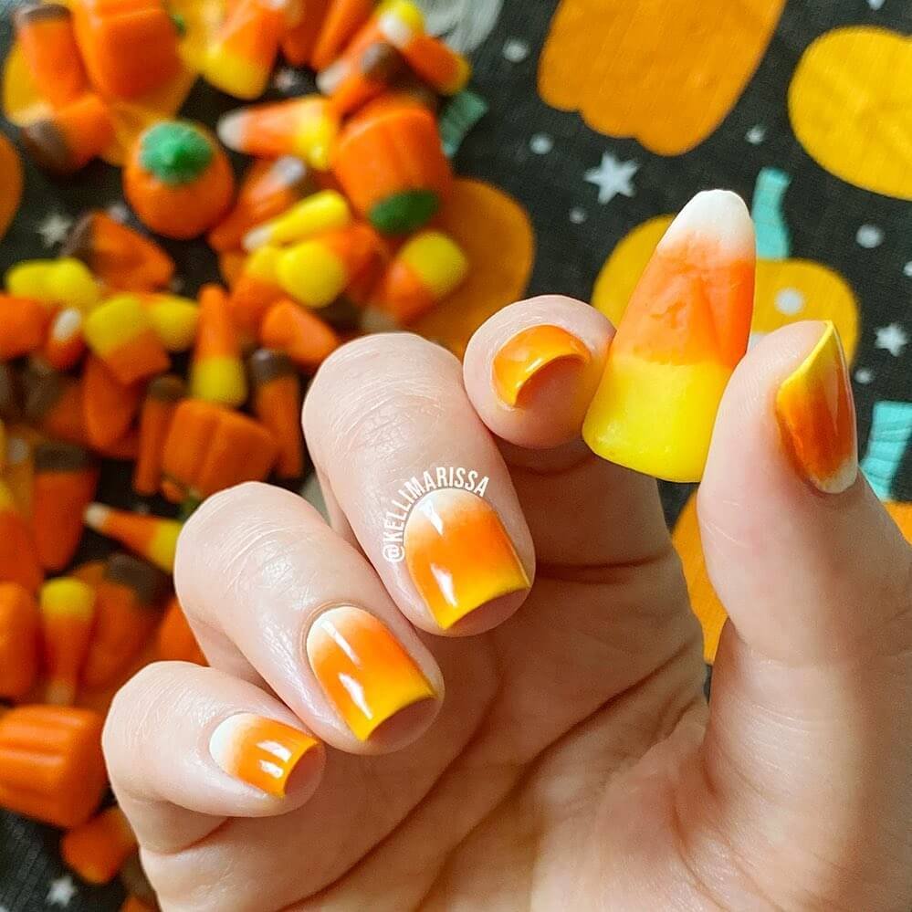
<svg viewBox="0 0 912 912"><path fill-rule="evenodd" d="M325 750L275 697L214 668L159 662L115 697L103 746L140 843L174 852L226 817L287 813L316 791Z"/></svg>

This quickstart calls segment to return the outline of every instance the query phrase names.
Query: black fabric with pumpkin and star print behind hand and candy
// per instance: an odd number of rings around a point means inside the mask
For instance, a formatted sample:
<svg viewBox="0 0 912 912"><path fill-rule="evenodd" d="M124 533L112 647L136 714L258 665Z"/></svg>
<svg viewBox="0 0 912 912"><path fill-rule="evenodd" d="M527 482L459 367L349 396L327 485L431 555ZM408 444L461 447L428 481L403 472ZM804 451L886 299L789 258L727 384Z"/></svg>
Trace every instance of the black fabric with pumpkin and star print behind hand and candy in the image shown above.
<svg viewBox="0 0 912 912"><path fill-rule="evenodd" d="M4 57L12 5L0 2ZM466 182L469 254L485 263L423 330L464 338L485 309L524 288L592 300L616 320L669 215L699 190L728 187L752 204L758 225L755 333L807 317L836 323L853 362L863 468L912 537L912 5L422 5L469 53L472 88L490 105L456 171L502 191ZM310 87L281 70L271 94ZM234 106L198 83L182 110L211 124ZM15 139L11 123L0 129ZM55 182L26 162L0 268L53 255L89 205L129 216L116 169L95 162ZM188 292L216 278L203 244L166 246ZM129 506L125 482L109 476L107 485L100 499ZM711 662L724 615L703 571L692 495L663 487ZM56 831L0 812L0 912L119 907L121 886L70 878L57 843Z"/></svg>

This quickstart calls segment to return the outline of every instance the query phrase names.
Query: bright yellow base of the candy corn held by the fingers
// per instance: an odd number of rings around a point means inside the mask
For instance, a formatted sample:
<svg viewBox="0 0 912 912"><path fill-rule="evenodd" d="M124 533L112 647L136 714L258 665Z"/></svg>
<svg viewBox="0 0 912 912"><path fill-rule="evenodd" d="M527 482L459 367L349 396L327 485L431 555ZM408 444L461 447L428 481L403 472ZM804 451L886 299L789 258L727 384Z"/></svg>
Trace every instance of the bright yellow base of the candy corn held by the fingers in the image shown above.
<svg viewBox="0 0 912 912"><path fill-rule="evenodd" d="M662 364L612 354L583 439L619 466L666 481L699 481L729 376L712 362Z"/></svg>

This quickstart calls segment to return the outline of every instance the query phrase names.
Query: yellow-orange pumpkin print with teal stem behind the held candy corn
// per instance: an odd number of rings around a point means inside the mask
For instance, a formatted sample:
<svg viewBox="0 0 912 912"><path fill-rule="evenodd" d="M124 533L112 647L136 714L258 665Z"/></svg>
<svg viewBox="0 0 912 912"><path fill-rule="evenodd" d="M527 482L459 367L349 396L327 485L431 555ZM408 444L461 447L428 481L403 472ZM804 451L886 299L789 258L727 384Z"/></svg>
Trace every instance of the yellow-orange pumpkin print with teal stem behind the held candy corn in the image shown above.
<svg viewBox="0 0 912 912"><path fill-rule="evenodd" d="M833 269L792 259L782 215L787 174L764 168L757 178L751 215L757 228L757 291L751 339L796 320L833 320L851 361L858 345L858 305L852 289ZM592 292L592 304L616 326L655 246L671 224L659 215L624 237L605 261Z"/></svg>

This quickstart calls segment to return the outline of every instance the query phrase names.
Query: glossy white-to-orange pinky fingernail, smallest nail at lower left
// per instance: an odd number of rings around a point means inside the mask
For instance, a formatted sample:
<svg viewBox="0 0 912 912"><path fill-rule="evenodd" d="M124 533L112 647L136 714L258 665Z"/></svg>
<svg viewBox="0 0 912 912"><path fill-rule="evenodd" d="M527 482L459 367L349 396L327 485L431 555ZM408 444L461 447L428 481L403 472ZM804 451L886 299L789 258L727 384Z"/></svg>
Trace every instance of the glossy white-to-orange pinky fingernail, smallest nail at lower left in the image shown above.
<svg viewBox="0 0 912 912"><path fill-rule="evenodd" d="M212 733L209 753L229 776L281 798L299 760L318 744L283 722L239 712Z"/></svg>

